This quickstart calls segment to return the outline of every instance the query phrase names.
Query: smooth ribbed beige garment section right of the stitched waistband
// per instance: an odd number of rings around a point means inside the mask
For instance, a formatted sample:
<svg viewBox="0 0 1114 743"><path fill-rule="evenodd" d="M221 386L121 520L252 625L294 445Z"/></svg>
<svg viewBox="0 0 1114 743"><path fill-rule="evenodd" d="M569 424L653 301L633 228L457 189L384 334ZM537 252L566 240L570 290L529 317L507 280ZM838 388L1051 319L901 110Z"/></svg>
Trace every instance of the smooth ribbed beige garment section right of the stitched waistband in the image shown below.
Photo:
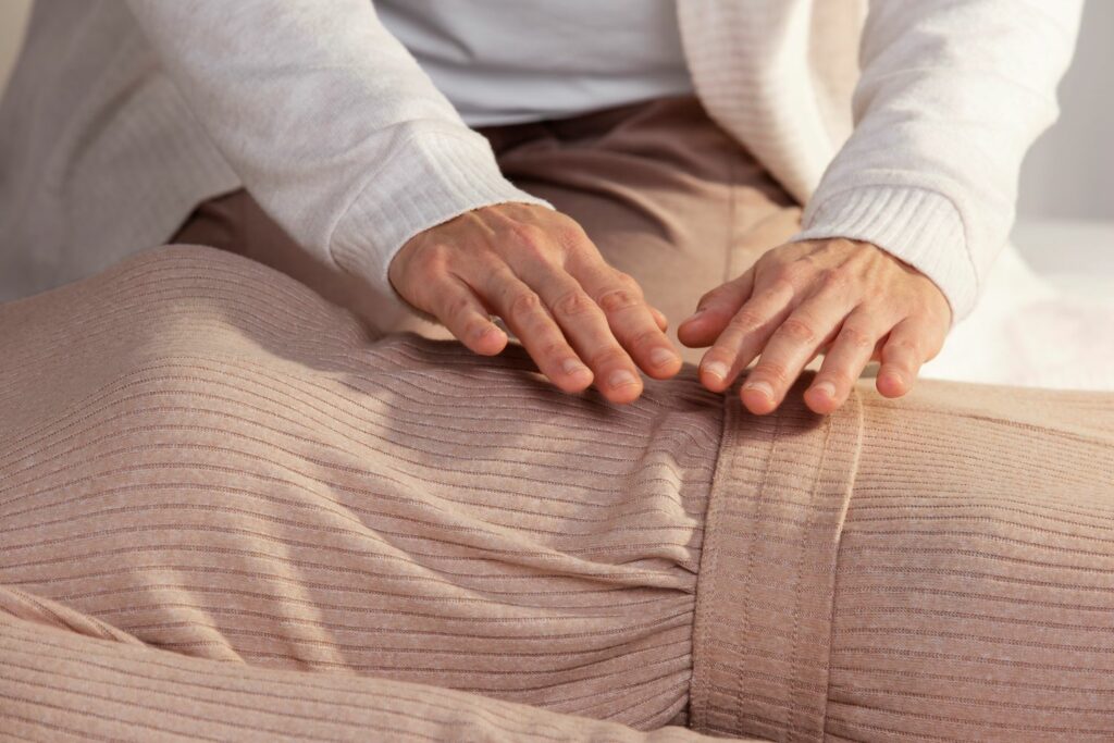
<svg viewBox="0 0 1114 743"><path fill-rule="evenodd" d="M1114 395L866 398L828 732L1114 736Z"/></svg>

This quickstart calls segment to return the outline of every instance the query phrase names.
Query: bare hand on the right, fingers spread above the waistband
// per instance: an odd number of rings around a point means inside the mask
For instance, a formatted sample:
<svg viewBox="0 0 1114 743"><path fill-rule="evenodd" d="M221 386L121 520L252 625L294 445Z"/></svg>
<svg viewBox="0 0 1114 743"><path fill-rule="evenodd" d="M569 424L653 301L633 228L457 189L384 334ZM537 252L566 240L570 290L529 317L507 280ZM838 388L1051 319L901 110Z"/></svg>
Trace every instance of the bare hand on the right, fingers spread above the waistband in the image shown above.
<svg viewBox="0 0 1114 743"><path fill-rule="evenodd" d="M769 251L701 297L677 336L690 348L714 343L700 364L701 381L714 392L761 352L740 391L759 416L775 410L804 366L825 353L804 402L830 413L871 360L881 361L880 393L908 392L950 326L951 307L931 280L876 245L837 238Z"/></svg>

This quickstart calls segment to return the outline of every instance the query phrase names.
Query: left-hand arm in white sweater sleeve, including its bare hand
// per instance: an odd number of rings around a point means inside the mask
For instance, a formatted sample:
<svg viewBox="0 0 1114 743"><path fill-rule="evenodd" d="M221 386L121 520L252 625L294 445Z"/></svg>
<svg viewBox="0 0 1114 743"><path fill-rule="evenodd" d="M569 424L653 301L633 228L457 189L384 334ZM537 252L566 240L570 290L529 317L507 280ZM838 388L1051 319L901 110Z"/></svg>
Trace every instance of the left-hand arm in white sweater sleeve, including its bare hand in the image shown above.
<svg viewBox="0 0 1114 743"><path fill-rule="evenodd" d="M247 189L326 263L480 354L506 346L489 313L500 315L569 392L596 382L629 402L639 366L658 379L680 370L637 284L571 218L504 178L369 0L130 7Z"/></svg>

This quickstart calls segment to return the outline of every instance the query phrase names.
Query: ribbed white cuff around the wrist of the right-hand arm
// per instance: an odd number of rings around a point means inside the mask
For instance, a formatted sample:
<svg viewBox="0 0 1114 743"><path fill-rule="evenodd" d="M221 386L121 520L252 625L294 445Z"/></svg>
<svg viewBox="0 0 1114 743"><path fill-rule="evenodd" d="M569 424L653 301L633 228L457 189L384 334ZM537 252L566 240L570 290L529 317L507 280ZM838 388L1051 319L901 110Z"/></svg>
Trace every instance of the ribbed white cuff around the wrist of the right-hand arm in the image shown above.
<svg viewBox="0 0 1114 743"><path fill-rule="evenodd" d="M931 278L951 304L952 323L978 299L979 282L955 204L934 190L867 185L818 194L793 242L846 237L872 243Z"/></svg>

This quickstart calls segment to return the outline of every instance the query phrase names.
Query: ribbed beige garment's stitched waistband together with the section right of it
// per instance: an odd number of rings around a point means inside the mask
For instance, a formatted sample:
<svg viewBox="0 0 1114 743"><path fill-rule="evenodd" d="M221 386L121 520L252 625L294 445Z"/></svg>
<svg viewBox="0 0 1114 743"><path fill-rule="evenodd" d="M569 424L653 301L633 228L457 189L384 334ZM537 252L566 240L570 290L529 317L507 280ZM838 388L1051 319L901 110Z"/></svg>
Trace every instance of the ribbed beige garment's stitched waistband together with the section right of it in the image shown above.
<svg viewBox="0 0 1114 743"><path fill-rule="evenodd" d="M827 418L727 413L694 727L1111 739L1114 395L863 381Z"/></svg>

